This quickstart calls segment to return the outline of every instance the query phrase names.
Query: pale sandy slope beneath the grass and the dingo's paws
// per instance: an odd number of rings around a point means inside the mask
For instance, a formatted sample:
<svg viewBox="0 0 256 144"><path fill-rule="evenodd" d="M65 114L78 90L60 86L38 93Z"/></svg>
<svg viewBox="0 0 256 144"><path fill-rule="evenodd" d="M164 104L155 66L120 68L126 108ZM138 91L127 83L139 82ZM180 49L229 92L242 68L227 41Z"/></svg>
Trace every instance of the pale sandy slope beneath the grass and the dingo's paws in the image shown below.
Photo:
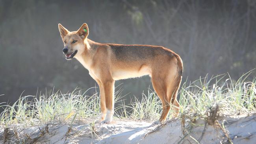
<svg viewBox="0 0 256 144"><path fill-rule="evenodd" d="M228 137L234 144L256 143L256 114L223 117L219 119L219 123L225 125L228 130L226 133L229 133ZM0 128L0 143L4 142L3 137L6 137L6 140L23 138L26 143L37 144L189 144L197 143L195 140L200 144L228 143L228 138L221 128L214 128L203 120L197 120L190 133L185 135L182 133L180 120L167 122L163 126L150 125L148 122L115 120L113 124L96 124L95 127L88 124L77 124L72 127L67 124L50 124L26 129L13 126L10 127L8 135ZM187 126L186 122L185 127ZM92 133L92 129L98 136Z"/></svg>

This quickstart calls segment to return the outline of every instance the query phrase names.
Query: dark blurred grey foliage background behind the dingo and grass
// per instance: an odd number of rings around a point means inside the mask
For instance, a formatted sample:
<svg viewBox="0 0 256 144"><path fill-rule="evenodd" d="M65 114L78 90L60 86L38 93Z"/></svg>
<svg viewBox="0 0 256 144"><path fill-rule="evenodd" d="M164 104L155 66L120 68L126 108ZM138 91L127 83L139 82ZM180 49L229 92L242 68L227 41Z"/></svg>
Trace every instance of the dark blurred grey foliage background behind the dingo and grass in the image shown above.
<svg viewBox="0 0 256 144"><path fill-rule="evenodd" d="M183 59L184 80L227 72L237 79L256 66L254 0L0 0L0 102L24 90L94 87L78 61L65 60L58 31L58 23L74 31L84 22L96 42L170 48ZM141 96L150 78L120 83L123 95Z"/></svg>

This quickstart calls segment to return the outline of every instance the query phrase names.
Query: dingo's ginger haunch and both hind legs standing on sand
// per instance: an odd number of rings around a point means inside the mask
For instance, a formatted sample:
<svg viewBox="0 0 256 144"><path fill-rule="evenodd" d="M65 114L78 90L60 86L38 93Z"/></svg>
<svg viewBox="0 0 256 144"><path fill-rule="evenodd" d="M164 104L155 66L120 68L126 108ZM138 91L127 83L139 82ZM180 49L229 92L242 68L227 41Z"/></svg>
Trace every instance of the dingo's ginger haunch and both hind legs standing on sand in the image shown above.
<svg viewBox="0 0 256 144"><path fill-rule="evenodd" d="M182 79L182 75L180 73L182 67L179 66L179 59L178 63L176 62L177 61L169 61L169 63L161 64L158 63L157 66L152 69L152 85L163 106L159 122L166 119L171 106L175 112L174 116L178 116L180 110L180 105L176 98Z"/></svg>

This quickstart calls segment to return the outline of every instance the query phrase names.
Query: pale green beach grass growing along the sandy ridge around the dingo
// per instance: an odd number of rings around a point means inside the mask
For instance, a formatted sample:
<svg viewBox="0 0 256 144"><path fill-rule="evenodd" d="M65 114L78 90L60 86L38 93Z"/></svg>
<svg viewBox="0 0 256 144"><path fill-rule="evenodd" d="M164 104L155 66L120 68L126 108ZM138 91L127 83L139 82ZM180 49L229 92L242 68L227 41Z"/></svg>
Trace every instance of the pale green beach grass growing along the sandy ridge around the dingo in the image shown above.
<svg viewBox="0 0 256 144"><path fill-rule="evenodd" d="M237 81L228 74L215 77L206 76L197 81L183 83L179 90L180 116L193 119L202 118L209 124L219 115L232 115L256 112L256 78L247 80L250 72ZM100 113L100 96L95 89L93 96L87 96L81 89L62 94L52 92L49 96L20 97L13 105L3 105L6 108L0 114L0 125L8 127L11 124L31 126L34 124L73 123L79 120L92 122ZM151 89L142 94L141 100L126 104L121 99L121 90L115 93L115 101L122 104L115 108L116 118L133 120L158 120L161 114L161 102ZM172 110L167 116L171 120Z"/></svg>

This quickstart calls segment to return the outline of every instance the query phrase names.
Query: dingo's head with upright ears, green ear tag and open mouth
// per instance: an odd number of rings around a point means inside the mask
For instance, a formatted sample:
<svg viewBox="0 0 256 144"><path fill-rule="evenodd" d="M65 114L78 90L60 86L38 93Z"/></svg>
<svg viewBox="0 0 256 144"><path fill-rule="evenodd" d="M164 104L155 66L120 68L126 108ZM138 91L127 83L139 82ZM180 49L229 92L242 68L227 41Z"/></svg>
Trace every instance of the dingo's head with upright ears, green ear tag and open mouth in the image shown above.
<svg viewBox="0 0 256 144"><path fill-rule="evenodd" d="M66 59L72 59L83 53L89 34L86 23L84 23L79 30L71 32L59 24L59 32L64 43L63 54L65 54Z"/></svg>

